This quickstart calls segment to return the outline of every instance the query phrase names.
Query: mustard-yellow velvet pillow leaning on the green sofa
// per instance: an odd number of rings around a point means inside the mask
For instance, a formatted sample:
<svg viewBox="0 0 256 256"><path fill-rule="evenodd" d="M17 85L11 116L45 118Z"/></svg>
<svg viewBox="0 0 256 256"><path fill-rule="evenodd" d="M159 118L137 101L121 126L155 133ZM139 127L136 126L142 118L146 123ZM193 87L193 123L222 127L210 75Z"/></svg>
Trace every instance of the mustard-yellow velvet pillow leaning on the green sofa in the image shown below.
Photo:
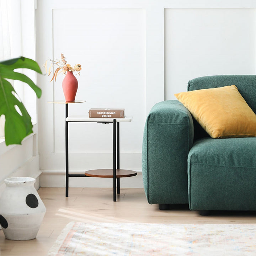
<svg viewBox="0 0 256 256"><path fill-rule="evenodd" d="M235 85L175 94L212 138L256 136L256 115Z"/></svg>

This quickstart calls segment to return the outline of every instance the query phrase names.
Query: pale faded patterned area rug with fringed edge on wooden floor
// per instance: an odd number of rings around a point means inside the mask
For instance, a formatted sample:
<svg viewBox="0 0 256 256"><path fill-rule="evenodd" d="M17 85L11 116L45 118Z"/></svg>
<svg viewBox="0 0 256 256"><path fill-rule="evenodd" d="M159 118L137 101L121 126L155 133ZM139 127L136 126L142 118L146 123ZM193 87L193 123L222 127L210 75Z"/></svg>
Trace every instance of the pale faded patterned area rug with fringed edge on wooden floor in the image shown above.
<svg viewBox="0 0 256 256"><path fill-rule="evenodd" d="M47 256L256 255L256 225L70 222Z"/></svg>

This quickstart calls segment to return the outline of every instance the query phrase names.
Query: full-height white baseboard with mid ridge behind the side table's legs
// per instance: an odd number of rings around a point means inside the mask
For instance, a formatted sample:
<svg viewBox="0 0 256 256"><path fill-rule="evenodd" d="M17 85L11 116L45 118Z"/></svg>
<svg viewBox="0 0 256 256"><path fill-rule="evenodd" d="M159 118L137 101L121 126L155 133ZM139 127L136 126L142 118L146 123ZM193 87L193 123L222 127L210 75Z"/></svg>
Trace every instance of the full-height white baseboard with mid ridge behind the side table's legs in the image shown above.
<svg viewBox="0 0 256 256"><path fill-rule="evenodd" d="M65 152L40 153L41 187L65 187ZM112 153L69 154L69 173L84 174L92 169L113 168ZM137 171L134 177L120 179L120 187L143 188L141 153L121 153L120 168ZM113 187L111 178L70 177L69 187Z"/></svg>

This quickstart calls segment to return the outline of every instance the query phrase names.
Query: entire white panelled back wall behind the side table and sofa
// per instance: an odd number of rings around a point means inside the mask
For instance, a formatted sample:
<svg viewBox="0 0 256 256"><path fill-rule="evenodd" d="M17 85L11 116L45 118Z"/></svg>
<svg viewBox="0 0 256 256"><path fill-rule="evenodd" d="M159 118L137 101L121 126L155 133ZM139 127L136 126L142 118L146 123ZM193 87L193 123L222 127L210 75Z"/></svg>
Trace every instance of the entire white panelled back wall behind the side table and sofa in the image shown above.
<svg viewBox="0 0 256 256"><path fill-rule="evenodd" d="M37 60L63 53L82 65L69 113L125 108L120 123L121 168L141 170L142 135L151 107L186 91L203 75L254 74L256 2L251 0L37 0ZM43 186L65 186L65 106L62 80L40 76L38 137ZM112 125L69 124L70 172L112 166ZM140 173L141 174L141 173ZM138 186L143 186L141 175ZM112 186L101 179L70 186ZM108 182L108 183L107 183ZM106 184L105 184L106 183ZM130 185L129 185L130 186ZM136 185L137 186L137 185Z"/></svg>

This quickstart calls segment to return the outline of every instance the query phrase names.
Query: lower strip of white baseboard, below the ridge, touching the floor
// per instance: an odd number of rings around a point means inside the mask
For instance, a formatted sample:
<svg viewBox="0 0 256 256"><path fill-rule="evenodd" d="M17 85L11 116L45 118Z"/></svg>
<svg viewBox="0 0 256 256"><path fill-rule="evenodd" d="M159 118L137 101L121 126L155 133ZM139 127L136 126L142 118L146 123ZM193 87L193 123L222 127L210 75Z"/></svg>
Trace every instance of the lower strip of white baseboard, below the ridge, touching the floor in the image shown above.
<svg viewBox="0 0 256 256"><path fill-rule="evenodd" d="M133 177L120 178L122 188L143 188L142 172L137 171ZM70 173L84 174L81 171L70 171ZM65 187L64 171L43 170L40 176L40 187ZM113 187L112 178L95 177L69 177L69 187Z"/></svg>

